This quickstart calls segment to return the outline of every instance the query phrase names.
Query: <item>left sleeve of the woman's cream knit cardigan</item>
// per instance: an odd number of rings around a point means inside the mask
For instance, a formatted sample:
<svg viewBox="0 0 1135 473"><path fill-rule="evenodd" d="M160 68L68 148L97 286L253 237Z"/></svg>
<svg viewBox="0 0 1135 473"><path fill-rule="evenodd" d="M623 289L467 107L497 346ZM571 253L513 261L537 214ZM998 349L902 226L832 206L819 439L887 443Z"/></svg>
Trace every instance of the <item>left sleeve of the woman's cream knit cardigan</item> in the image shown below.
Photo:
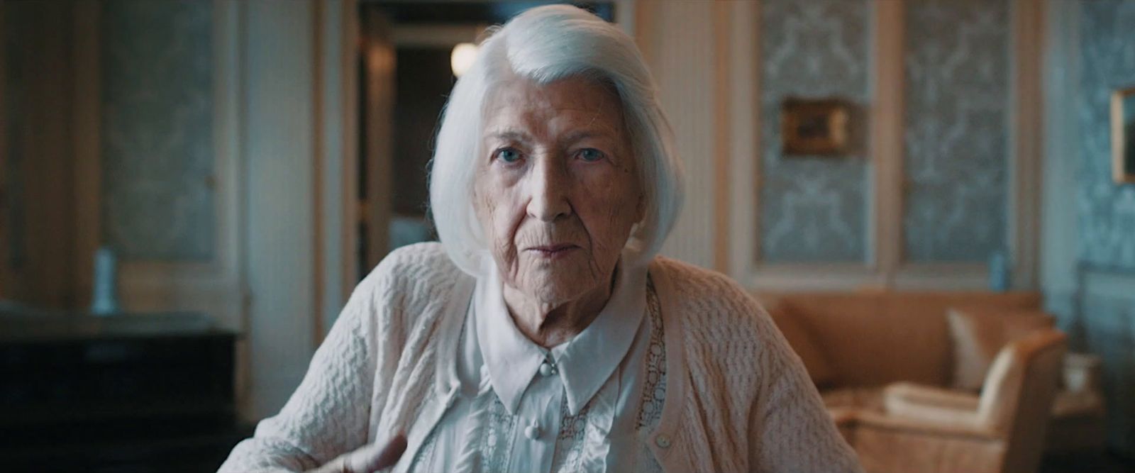
<svg viewBox="0 0 1135 473"><path fill-rule="evenodd" d="M380 265L351 295L308 372L279 414L257 425L221 465L221 473L302 472L367 442L375 350L376 297L388 293Z"/></svg>

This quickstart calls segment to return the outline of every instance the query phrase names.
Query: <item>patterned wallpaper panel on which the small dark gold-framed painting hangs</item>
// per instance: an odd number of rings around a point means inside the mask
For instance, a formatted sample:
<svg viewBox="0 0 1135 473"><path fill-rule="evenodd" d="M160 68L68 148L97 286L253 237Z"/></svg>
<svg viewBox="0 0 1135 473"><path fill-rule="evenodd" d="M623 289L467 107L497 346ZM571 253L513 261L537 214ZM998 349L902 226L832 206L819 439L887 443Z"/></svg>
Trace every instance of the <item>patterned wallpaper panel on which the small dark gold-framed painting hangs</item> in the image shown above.
<svg viewBox="0 0 1135 473"><path fill-rule="evenodd" d="M866 0L762 2L760 250L765 262L863 262L868 164L860 155L784 158L788 96L869 102Z"/></svg>

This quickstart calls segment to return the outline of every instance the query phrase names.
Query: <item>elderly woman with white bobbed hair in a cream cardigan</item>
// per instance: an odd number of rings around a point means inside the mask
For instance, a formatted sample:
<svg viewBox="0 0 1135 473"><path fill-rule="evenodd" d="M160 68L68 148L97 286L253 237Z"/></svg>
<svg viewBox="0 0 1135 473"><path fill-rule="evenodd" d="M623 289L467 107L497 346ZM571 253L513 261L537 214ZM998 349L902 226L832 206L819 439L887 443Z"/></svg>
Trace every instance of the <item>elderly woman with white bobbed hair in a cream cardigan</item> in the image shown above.
<svg viewBox="0 0 1135 473"><path fill-rule="evenodd" d="M440 244L359 285L224 472L851 472L799 358L730 279L655 256L681 170L632 40L540 7L453 88Z"/></svg>

